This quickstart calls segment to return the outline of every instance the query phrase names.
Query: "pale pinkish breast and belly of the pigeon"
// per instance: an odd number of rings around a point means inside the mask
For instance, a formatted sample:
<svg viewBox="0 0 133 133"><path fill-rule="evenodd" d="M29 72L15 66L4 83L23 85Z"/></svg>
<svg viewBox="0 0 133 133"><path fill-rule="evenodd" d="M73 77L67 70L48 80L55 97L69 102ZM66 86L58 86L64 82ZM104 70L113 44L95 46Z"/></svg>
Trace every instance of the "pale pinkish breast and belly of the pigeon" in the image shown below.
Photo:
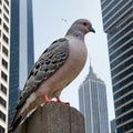
<svg viewBox="0 0 133 133"><path fill-rule="evenodd" d="M69 42L69 57L64 64L40 85L41 93L54 93L65 88L83 69L86 61L86 48L82 41ZM51 96L50 96L51 98Z"/></svg>

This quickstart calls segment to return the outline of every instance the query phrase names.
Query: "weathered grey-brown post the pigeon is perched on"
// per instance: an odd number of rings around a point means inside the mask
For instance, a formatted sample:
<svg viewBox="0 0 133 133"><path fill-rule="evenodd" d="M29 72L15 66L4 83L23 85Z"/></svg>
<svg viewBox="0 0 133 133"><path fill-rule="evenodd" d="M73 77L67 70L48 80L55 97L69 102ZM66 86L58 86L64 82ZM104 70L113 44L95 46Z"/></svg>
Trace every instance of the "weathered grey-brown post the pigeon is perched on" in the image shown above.
<svg viewBox="0 0 133 133"><path fill-rule="evenodd" d="M69 105L50 102L39 106L18 133L85 133L84 117Z"/></svg>

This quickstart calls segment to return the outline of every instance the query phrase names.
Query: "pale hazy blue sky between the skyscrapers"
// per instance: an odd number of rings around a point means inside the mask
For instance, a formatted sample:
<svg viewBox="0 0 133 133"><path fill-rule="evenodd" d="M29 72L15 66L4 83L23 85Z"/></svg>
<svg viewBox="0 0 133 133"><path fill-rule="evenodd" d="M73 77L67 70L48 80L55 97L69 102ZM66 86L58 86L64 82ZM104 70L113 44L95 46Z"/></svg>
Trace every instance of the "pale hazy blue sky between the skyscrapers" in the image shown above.
<svg viewBox="0 0 133 133"><path fill-rule="evenodd" d="M78 90L89 73L90 58L94 72L106 84L109 119L114 117L106 34L103 32L100 0L33 0L35 61L54 40L64 37L73 21L89 19L96 33L85 37L88 61L81 74L61 94L79 110ZM63 21L62 19L66 20Z"/></svg>

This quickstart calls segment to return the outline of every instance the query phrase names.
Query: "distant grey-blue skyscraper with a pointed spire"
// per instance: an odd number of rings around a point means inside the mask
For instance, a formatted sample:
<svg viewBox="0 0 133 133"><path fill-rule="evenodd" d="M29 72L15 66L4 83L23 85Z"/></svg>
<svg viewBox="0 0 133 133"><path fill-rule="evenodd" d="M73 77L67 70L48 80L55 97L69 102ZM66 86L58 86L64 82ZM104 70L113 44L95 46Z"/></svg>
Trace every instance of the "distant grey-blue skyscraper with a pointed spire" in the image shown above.
<svg viewBox="0 0 133 133"><path fill-rule="evenodd" d="M109 133L105 84L96 78L91 65L89 75L79 89L79 101L86 133Z"/></svg>

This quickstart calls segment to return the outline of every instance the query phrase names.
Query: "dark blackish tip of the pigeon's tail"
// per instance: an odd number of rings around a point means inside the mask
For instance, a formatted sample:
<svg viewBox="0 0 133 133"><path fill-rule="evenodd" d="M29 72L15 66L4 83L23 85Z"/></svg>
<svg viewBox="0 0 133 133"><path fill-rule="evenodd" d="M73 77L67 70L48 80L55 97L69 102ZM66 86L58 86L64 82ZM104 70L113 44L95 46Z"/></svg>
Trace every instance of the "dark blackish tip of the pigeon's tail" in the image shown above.
<svg viewBox="0 0 133 133"><path fill-rule="evenodd" d="M17 126L18 126L18 125L20 124L20 122L22 121L22 116L21 116L21 115L18 116L18 113L19 113L19 112L16 113L14 119L13 119L13 121L12 121L10 127L9 127L8 133L13 133L13 131L17 129Z"/></svg>

